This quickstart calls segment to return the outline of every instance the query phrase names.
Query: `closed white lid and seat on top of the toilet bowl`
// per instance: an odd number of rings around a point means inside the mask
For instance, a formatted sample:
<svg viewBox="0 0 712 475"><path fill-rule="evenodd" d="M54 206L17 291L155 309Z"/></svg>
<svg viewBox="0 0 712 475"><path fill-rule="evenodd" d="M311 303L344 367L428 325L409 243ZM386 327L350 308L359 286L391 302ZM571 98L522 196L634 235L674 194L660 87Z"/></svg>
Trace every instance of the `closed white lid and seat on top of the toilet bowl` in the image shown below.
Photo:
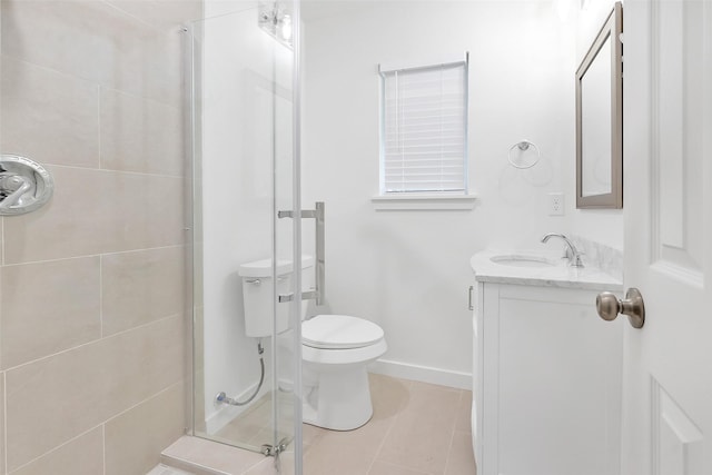
<svg viewBox="0 0 712 475"><path fill-rule="evenodd" d="M363 348L383 338L383 328L348 315L317 315L301 324L301 343L313 348Z"/></svg>

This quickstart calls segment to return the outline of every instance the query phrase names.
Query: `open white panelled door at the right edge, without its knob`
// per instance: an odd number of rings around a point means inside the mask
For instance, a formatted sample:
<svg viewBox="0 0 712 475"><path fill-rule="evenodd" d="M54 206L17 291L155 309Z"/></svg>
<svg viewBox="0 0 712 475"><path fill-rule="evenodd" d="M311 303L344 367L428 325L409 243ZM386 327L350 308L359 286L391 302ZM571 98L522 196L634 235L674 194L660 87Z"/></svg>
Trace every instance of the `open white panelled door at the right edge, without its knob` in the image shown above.
<svg viewBox="0 0 712 475"><path fill-rule="evenodd" d="M712 1L624 8L623 475L712 474Z"/></svg>

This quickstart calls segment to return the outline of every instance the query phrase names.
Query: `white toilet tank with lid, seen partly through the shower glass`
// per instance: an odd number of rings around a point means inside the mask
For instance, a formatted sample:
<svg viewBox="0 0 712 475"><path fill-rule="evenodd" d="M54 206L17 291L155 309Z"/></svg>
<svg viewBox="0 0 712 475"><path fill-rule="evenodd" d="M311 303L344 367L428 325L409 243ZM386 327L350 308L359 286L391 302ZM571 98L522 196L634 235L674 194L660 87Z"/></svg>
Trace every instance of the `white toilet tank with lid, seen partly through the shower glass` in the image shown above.
<svg viewBox="0 0 712 475"><path fill-rule="evenodd" d="M314 258L301 257L301 288L312 288L314 281ZM291 260L277 259L277 296L293 291ZM243 264L239 268L243 281L243 307L245 314L245 333L249 337L267 337L273 334L271 309L273 303L277 311L277 333L285 331L289 327L289 305L279 304L277 296L273 295L273 268L271 259L255 260ZM306 311L306 301L301 303L301 318Z"/></svg>

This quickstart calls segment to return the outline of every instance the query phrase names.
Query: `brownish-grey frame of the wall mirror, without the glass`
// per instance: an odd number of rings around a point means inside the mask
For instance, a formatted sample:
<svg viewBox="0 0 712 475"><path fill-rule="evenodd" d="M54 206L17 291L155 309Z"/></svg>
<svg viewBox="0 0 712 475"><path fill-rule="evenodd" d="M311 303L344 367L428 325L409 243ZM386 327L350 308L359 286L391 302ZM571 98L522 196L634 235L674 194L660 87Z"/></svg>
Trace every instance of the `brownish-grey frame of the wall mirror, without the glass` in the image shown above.
<svg viewBox="0 0 712 475"><path fill-rule="evenodd" d="M576 70L576 208L623 208L623 8L616 2ZM611 192L583 196L581 82L611 38Z"/></svg>

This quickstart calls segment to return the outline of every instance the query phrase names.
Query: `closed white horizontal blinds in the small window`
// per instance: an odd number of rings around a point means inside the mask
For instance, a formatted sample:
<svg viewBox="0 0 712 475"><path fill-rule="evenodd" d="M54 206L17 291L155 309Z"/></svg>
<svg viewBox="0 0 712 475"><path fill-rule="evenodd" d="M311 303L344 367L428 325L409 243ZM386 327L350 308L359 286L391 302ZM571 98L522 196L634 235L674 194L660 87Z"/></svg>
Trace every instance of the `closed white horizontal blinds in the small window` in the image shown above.
<svg viewBox="0 0 712 475"><path fill-rule="evenodd" d="M467 62L380 76L382 195L467 192Z"/></svg>

